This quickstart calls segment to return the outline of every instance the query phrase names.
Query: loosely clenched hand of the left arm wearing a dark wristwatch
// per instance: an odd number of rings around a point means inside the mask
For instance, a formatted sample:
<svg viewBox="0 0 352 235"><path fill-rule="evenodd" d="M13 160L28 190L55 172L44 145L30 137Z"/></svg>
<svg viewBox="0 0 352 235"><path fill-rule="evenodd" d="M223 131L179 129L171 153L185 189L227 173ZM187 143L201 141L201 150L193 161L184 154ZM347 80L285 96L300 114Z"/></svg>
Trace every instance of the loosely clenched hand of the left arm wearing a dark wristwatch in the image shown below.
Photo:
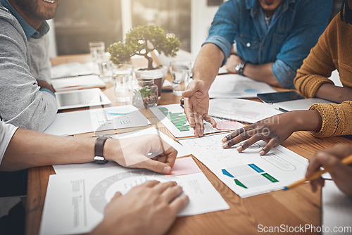
<svg viewBox="0 0 352 235"><path fill-rule="evenodd" d="M149 155L151 153L151 155ZM177 151L157 134L125 139L108 139L104 146L106 160L131 168L145 168L170 174Z"/></svg>

